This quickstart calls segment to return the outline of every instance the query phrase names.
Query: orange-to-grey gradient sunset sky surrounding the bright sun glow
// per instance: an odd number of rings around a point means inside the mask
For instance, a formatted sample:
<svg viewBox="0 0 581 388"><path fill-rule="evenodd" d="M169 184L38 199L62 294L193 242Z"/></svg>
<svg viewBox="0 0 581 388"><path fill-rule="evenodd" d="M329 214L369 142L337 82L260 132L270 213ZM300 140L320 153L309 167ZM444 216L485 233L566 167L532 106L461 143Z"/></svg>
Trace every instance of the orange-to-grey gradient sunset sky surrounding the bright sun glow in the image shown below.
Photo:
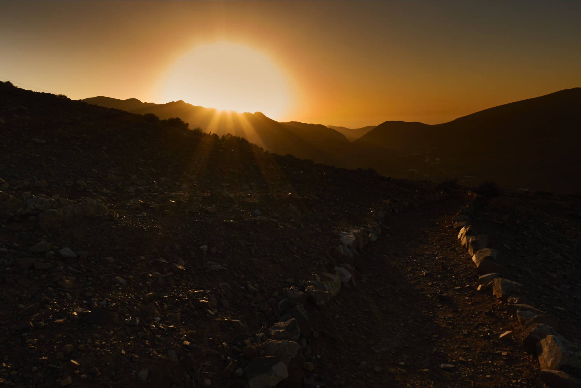
<svg viewBox="0 0 581 388"><path fill-rule="evenodd" d="M581 86L580 20L579 1L3 1L0 77L73 99L164 103L168 69L225 41L284 74L288 106L272 119L435 124ZM216 91L198 95L181 99L209 106Z"/></svg>

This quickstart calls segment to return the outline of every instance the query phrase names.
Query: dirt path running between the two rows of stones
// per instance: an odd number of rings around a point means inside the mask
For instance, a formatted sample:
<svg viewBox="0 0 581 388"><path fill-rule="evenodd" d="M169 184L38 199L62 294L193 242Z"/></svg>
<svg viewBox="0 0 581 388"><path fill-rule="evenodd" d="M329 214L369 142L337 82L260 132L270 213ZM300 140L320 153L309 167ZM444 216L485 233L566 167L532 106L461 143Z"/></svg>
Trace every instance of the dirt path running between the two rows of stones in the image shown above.
<svg viewBox="0 0 581 388"><path fill-rule="evenodd" d="M518 323L490 291L476 290L474 264L450 227L467 202L456 194L386 219L390 229L368 245L358 287L315 317L321 338L311 383L544 386L536 359L519 345ZM498 339L507 330L514 338Z"/></svg>

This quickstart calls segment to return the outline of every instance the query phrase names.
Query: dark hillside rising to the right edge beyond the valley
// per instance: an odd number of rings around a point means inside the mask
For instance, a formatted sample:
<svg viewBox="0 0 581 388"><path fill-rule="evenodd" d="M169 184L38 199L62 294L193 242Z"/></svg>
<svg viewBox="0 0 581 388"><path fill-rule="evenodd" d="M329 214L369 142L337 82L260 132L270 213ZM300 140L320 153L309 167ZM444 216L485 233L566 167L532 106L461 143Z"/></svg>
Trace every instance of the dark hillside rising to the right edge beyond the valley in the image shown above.
<svg viewBox="0 0 581 388"><path fill-rule="evenodd" d="M579 101L572 88L443 124L385 122L354 141L354 159L390 176L580 193Z"/></svg>

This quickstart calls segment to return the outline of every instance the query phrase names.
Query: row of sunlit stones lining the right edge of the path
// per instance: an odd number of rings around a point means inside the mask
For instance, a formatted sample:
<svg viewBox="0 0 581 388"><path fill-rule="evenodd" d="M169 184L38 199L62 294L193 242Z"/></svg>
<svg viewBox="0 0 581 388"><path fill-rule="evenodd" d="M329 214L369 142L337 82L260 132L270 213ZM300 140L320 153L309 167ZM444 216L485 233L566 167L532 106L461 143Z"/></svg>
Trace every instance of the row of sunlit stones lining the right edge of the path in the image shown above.
<svg viewBox="0 0 581 388"><path fill-rule="evenodd" d="M488 204L488 199L468 192L474 198L452 218L458 240L472 256L476 266L478 290L492 289L493 297L507 303L506 311L525 328L523 347L536 353L541 368L541 378L552 387L581 386L581 346L567 341L558 334L559 319L533 307L526 298L526 285L505 279L503 258L498 251L486 247L486 234L478 234L471 226L471 216ZM505 332L501 338L511 337Z"/></svg>

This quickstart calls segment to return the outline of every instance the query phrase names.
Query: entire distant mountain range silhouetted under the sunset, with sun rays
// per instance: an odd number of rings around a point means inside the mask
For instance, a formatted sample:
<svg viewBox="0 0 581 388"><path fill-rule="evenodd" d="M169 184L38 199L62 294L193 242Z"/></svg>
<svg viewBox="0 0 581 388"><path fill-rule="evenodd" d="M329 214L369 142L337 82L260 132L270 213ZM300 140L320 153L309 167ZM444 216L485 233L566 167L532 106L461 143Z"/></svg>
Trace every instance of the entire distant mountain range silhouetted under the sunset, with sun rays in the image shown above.
<svg viewBox="0 0 581 388"><path fill-rule="evenodd" d="M182 100L167 104L107 97L83 101L131 106L132 113L180 117L191 127L245 137L271 152L343 168L375 169L393 177L435 181L465 176L512 187L581 191L568 175L581 173L581 88L493 106L441 124L388 120L352 142L322 124L277 122L260 112L217 111ZM345 128L345 127L343 127ZM437 160L436 160L437 159ZM413 172L413 173L410 173Z"/></svg>

